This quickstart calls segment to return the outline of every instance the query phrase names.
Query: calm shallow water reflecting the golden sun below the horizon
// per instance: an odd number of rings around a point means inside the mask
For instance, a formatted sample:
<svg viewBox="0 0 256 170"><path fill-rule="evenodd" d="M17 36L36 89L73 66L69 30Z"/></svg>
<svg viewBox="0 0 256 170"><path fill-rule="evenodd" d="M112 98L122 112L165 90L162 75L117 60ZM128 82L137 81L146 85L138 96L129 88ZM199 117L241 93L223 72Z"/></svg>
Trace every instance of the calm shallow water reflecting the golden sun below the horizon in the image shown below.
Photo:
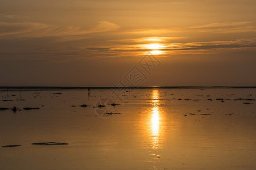
<svg viewBox="0 0 256 170"><path fill-rule="evenodd" d="M0 146L22 145L0 147L0 169L256 169L256 101L236 100L256 99L256 89L126 95L120 101L110 90L0 91L0 108L40 108L0 111Z"/></svg>

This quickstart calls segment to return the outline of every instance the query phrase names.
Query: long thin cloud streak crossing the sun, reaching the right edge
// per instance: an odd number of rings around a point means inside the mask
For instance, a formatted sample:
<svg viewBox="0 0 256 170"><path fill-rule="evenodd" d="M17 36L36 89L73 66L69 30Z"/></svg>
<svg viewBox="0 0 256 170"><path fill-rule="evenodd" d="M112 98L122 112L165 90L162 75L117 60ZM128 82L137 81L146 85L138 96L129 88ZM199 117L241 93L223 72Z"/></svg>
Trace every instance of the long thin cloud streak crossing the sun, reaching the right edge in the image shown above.
<svg viewBox="0 0 256 170"><path fill-rule="evenodd" d="M163 56L170 54L195 54L195 53L218 53L222 50L241 50L256 49L256 39L238 39L233 41L204 41L204 42L186 42L186 43L163 43L162 48L158 49L164 52ZM144 45L119 45L110 46L108 48L86 48L88 52L93 53L112 53L118 52L149 52L152 49L145 48Z"/></svg>

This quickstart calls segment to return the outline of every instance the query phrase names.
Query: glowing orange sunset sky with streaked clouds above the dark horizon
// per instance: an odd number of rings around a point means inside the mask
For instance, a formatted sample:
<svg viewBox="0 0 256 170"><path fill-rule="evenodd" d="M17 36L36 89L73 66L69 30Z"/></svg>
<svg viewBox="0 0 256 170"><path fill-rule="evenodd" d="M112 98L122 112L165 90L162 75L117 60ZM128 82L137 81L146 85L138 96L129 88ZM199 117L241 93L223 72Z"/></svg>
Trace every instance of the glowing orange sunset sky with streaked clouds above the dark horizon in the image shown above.
<svg viewBox="0 0 256 170"><path fill-rule="evenodd" d="M256 86L255 0L0 0L0 86Z"/></svg>

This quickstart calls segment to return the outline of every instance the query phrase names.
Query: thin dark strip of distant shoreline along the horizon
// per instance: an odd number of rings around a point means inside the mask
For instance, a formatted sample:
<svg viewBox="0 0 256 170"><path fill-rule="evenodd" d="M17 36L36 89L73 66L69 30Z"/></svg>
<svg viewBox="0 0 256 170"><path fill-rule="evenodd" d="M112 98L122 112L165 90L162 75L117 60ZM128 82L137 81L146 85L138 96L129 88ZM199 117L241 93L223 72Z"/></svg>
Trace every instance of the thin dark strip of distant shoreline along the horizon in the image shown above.
<svg viewBox="0 0 256 170"><path fill-rule="evenodd" d="M115 89L114 86L90 86L90 89ZM122 88L122 87L119 87ZM256 86L141 86L141 87L123 87L123 88L135 88L135 89L154 89L154 88L174 88L174 89L186 89L186 88L256 88ZM0 86L1 90L82 90L88 89L86 87L61 87L61 86Z"/></svg>

